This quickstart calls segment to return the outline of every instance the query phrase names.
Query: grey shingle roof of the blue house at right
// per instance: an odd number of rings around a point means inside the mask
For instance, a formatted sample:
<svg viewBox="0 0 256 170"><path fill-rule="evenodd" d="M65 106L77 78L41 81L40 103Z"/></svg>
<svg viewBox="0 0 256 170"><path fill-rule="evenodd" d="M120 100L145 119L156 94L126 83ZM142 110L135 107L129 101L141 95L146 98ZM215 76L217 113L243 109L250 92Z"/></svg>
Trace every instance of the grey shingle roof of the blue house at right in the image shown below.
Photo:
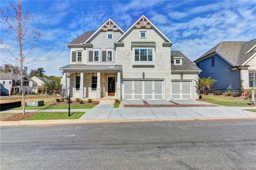
<svg viewBox="0 0 256 170"><path fill-rule="evenodd" d="M201 57L197 58L195 62L210 57L211 54L218 54L220 57L229 62L232 66L241 66L252 57L255 52L248 52L256 44L256 39L251 41L221 41Z"/></svg>

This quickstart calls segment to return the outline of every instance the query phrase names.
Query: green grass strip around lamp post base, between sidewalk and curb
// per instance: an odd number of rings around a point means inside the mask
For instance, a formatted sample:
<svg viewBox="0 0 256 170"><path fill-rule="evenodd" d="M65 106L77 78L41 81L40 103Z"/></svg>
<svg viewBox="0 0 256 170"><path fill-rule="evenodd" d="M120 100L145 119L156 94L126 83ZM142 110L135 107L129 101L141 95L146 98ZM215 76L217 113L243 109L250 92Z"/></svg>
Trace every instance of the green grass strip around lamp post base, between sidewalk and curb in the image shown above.
<svg viewBox="0 0 256 170"><path fill-rule="evenodd" d="M35 116L23 120L78 119L82 114L84 112L71 112L71 116L69 117L67 112L37 112Z"/></svg>

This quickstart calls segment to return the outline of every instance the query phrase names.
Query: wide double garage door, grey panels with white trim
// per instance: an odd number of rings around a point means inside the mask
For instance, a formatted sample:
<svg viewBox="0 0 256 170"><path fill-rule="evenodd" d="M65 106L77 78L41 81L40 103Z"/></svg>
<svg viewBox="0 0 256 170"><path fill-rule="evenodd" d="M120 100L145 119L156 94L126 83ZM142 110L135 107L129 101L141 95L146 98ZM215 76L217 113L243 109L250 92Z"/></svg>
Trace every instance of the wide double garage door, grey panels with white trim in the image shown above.
<svg viewBox="0 0 256 170"><path fill-rule="evenodd" d="M124 80L123 99L160 100L164 99L163 80Z"/></svg>

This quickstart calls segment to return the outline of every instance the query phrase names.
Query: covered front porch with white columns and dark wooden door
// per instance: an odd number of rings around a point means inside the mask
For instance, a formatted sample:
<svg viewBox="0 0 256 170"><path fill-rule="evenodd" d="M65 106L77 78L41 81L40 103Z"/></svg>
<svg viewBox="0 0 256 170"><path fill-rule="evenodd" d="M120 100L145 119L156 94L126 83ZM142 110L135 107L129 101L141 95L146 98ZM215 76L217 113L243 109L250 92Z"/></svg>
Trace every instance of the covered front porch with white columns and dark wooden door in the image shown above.
<svg viewBox="0 0 256 170"><path fill-rule="evenodd" d="M72 99L121 99L121 69L112 65L68 65L63 71L65 96ZM71 67L73 66L73 67ZM77 66L79 66L77 68Z"/></svg>

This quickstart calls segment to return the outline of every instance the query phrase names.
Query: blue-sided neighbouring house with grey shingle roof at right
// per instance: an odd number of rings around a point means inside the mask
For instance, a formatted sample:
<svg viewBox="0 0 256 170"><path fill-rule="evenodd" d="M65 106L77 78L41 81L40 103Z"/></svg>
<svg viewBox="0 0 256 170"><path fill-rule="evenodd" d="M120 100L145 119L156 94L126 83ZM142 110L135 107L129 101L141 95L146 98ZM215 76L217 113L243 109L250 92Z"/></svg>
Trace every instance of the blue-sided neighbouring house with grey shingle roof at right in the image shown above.
<svg viewBox="0 0 256 170"><path fill-rule="evenodd" d="M222 41L203 56L196 59L202 70L200 77L212 76L217 82L211 90L234 91L238 93L240 81L248 90L256 88L256 39L241 41Z"/></svg>

